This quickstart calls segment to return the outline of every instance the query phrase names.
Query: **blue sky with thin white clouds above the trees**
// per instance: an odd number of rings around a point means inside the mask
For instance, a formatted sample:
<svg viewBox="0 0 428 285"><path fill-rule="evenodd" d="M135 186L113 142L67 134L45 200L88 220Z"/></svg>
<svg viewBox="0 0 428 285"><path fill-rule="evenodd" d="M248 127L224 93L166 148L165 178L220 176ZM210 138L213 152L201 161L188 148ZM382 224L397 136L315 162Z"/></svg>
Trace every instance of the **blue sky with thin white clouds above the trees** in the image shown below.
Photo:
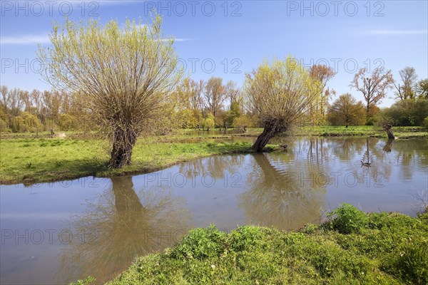
<svg viewBox="0 0 428 285"><path fill-rule="evenodd" d="M46 89L36 59L51 22L93 17L150 21L153 7L166 35L175 36L180 62L195 80L220 76L241 86L265 58L293 55L305 66L337 71L328 86L349 87L357 68L405 66L428 77L428 1L1 1L1 85ZM214 65L215 66L214 66ZM394 93L389 92L389 97ZM381 106L391 105L386 98Z"/></svg>

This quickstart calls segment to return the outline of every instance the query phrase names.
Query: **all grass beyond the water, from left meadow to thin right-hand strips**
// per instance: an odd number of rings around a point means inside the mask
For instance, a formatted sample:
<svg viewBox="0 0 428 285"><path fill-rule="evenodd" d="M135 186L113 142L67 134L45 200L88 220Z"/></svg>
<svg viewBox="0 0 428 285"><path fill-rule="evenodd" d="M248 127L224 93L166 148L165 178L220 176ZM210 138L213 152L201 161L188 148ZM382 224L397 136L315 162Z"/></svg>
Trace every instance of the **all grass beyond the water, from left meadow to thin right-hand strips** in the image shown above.
<svg viewBox="0 0 428 285"><path fill-rule="evenodd" d="M325 132L324 129L335 131ZM339 128L306 128L307 133L297 133L290 137L312 136L318 138L384 138L384 133L374 132L374 128L348 128L350 133L337 133ZM345 129L344 127L342 129ZM359 129L368 130L360 133ZM398 130L413 130L401 127ZM428 138L428 132L417 129L414 133L396 131L397 139ZM210 155L253 152L250 142L204 142L204 140L231 140L233 137L256 137L259 129L236 135L191 135L181 130L181 134L141 138L133 150L133 162L120 170L109 169L106 142L97 139L71 138L15 138L1 139L0 185L23 183L31 185L42 182L75 180L81 177L114 177L142 175L156 172L180 162L195 160ZM192 131L193 132L193 131ZM300 130L302 132L302 130ZM21 134L19 134L21 135ZM180 142L201 140L200 142ZM191 150L191 151L189 151Z"/></svg>

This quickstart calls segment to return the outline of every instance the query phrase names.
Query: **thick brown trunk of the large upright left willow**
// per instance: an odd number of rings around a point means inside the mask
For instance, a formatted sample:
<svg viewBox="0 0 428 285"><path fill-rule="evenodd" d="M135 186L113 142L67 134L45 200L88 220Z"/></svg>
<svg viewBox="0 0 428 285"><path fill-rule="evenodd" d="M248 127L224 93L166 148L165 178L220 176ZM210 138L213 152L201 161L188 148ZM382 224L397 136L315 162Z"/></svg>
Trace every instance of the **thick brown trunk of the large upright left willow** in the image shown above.
<svg viewBox="0 0 428 285"><path fill-rule="evenodd" d="M121 168L131 163L132 149L136 144L137 135L131 128L117 128L113 132L113 147L111 149L110 165Z"/></svg>

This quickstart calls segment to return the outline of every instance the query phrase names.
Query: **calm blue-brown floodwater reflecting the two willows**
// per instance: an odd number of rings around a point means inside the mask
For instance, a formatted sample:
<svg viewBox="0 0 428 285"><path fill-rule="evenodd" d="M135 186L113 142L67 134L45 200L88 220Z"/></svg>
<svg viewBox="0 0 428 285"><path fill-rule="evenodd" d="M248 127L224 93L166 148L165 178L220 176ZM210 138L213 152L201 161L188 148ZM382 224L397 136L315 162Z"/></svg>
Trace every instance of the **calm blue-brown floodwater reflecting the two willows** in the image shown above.
<svg viewBox="0 0 428 285"><path fill-rule="evenodd" d="M89 275L101 283L193 227L299 229L342 202L414 216L427 199L428 140L282 143L286 152L213 156L134 177L1 186L0 283Z"/></svg>

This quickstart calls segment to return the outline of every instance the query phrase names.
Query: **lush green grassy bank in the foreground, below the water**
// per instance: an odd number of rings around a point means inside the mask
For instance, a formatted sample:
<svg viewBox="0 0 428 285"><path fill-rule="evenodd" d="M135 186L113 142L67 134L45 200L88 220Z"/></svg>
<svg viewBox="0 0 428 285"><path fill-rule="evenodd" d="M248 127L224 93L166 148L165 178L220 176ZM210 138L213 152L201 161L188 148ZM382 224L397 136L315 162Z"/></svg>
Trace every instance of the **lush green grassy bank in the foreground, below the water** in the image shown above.
<svg viewBox="0 0 428 285"><path fill-rule="evenodd" d="M193 229L108 284L428 284L427 213L365 214L344 204L333 217L300 232Z"/></svg>

